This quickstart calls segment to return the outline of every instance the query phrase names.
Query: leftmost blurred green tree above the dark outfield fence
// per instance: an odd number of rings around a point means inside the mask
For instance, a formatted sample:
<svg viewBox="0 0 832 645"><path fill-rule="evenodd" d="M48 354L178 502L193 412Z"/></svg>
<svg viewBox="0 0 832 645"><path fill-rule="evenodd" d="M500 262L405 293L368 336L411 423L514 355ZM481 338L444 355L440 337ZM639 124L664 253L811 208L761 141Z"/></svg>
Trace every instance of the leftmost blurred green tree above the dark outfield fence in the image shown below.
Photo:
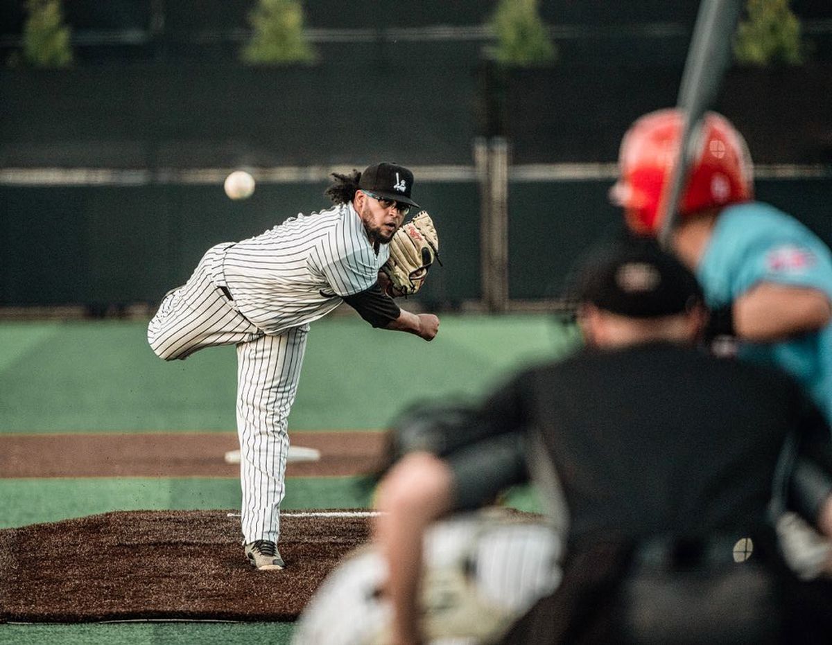
<svg viewBox="0 0 832 645"><path fill-rule="evenodd" d="M63 24L61 0L27 0L28 17L23 25L22 61L19 54L10 63L33 67L72 65L70 28Z"/></svg>

